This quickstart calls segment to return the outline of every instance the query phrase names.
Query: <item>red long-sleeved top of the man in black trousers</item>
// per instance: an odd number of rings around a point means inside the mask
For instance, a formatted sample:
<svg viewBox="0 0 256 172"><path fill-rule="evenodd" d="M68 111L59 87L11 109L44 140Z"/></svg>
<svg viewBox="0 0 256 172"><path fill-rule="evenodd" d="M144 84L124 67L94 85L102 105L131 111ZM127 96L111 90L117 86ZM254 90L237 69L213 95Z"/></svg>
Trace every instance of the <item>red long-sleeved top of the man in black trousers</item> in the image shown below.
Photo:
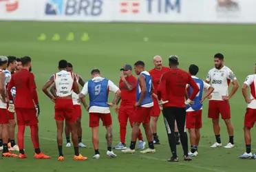
<svg viewBox="0 0 256 172"><path fill-rule="evenodd" d="M186 107L184 102L187 84L193 88L193 93L189 97L193 100L199 92L199 87L191 75L182 69L171 69L162 75L158 87L158 99L169 100L164 107Z"/></svg>

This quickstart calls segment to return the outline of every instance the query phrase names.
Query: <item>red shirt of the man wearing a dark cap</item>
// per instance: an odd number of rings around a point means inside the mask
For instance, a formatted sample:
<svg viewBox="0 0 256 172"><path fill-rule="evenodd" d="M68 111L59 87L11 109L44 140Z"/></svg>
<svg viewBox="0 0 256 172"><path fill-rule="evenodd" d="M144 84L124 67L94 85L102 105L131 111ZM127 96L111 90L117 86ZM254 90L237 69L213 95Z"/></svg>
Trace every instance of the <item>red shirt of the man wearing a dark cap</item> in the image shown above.
<svg viewBox="0 0 256 172"><path fill-rule="evenodd" d="M121 106L126 106L126 105L134 106L136 103L137 78L131 75L131 76L127 76L125 79L132 86L132 90L129 91L125 83L122 80L119 81L119 88L121 91Z"/></svg>

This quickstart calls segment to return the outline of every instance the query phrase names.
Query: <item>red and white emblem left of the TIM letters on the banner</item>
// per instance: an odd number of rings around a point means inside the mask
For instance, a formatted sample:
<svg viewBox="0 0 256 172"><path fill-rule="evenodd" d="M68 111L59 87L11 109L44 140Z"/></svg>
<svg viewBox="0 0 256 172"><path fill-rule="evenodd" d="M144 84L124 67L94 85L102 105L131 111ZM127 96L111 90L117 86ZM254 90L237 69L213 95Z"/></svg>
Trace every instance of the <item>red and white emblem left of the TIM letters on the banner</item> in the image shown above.
<svg viewBox="0 0 256 172"><path fill-rule="evenodd" d="M120 2L120 12L122 14L138 14L140 12L140 0L124 0Z"/></svg>

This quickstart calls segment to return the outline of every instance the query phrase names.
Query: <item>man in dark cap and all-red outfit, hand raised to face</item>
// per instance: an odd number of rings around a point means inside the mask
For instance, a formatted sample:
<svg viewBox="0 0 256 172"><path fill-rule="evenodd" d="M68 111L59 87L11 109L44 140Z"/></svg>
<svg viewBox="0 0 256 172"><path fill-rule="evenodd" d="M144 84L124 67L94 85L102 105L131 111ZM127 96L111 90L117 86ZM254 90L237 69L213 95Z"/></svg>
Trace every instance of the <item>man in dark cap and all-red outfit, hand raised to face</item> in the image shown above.
<svg viewBox="0 0 256 172"><path fill-rule="evenodd" d="M120 69L120 81L119 88L121 91L121 96L118 100L121 100L120 107L116 106L115 110L118 114L119 126L120 126L120 143L114 147L117 150L127 149L125 144L126 126L129 119L130 125L132 127L134 123L135 108L136 103L136 86L137 79L132 75L131 65L124 65ZM145 142L143 142L141 131L138 133L138 149L145 149Z"/></svg>

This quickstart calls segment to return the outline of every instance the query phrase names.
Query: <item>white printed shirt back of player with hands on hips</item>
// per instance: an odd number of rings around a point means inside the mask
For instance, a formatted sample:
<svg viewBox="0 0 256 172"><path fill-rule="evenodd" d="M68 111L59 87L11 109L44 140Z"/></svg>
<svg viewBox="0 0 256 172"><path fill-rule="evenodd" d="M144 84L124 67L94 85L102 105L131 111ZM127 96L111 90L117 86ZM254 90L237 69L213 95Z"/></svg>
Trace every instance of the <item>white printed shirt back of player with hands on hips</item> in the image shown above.
<svg viewBox="0 0 256 172"><path fill-rule="evenodd" d="M58 97L72 95L74 76L71 72L61 70L60 72L54 74L54 83L56 86L56 95Z"/></svg>

